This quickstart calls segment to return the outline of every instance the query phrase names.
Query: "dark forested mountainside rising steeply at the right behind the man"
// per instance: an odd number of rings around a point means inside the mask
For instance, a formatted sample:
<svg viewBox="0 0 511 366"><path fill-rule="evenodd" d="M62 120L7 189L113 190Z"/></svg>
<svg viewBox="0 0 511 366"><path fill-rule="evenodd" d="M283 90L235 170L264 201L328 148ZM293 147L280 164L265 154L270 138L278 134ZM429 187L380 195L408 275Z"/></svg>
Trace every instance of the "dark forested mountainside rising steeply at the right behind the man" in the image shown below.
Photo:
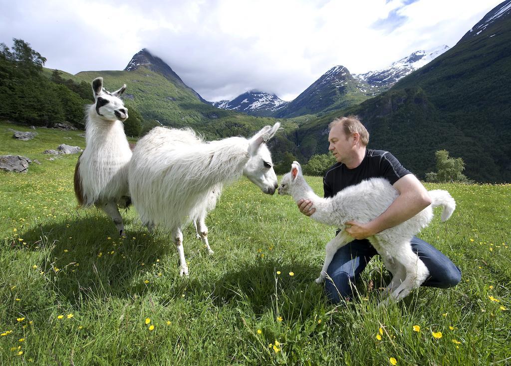
<svg viewBox="0 0 511 366"><path fill-rule="evenodd" d="M328 151L328 123L355 114L417 176L446 149L476 181L511 181L511 0L479 21L450 50L360 105L307 122L289 134L306 157Z"/></svg>

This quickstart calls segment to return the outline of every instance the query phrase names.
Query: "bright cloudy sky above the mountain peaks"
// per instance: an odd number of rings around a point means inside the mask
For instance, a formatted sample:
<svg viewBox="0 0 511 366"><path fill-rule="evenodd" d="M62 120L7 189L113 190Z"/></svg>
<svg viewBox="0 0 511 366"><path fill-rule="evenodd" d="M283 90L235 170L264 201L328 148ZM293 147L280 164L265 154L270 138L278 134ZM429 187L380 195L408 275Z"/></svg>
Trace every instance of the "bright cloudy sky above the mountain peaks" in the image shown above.
<svg viewBox="0 0 511 366"><path fill-rule="evenodd" d="M147 48L206 100L292 100L334 65L360 74L453 47L501 2L0 0L0 42L21 38L72 74L123 70Z"/></svg>

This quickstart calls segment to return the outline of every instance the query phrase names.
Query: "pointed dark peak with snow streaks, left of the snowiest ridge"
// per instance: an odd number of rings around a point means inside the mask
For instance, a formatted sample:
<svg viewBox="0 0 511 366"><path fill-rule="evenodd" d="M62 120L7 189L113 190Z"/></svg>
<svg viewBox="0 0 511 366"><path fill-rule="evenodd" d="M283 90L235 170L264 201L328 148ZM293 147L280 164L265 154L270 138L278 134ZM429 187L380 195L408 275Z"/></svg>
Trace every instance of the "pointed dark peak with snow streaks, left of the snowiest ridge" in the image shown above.
<svg viewBox="0 0 511 366"><path fill-rule="evenodd" d="M273 113L273 117L292 118L357 104L371 96L368 89L367 84L356 80L346 67L334 66L298 97Z"/></svg>

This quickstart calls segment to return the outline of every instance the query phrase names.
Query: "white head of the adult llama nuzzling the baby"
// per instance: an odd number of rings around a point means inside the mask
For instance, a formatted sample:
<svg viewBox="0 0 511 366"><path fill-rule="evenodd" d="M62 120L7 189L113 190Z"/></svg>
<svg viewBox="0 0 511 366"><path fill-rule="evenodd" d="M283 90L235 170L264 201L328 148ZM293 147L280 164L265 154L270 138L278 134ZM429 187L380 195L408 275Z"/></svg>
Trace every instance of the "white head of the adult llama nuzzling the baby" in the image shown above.
<svg viewBox="0 0 511 366"><path fill-rule="evenodd" d="M264 143L273 137L280 125L277 122L273 127L265 126L249 140L250 158L243 168L243 175L266 194L275 193L277 176L273 170L270 150Z"/></svg>

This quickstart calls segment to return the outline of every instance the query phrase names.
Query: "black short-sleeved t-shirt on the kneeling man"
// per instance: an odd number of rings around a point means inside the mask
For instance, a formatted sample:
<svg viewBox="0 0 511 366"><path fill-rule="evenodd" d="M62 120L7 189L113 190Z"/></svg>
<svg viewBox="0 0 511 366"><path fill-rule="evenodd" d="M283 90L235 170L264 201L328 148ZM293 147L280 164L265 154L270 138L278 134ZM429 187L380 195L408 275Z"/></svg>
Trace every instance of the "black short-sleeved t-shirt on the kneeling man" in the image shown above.
<svg viewBox="0 0 511 366"><path fill-rule="evenodd" d="M358 167L348 169L343 163L337 163L327 170L323 177L324 196L335 196L340 190L369 178L386 178L393 185L406 174L411 172L390 152L367 149Z"/></svg>

